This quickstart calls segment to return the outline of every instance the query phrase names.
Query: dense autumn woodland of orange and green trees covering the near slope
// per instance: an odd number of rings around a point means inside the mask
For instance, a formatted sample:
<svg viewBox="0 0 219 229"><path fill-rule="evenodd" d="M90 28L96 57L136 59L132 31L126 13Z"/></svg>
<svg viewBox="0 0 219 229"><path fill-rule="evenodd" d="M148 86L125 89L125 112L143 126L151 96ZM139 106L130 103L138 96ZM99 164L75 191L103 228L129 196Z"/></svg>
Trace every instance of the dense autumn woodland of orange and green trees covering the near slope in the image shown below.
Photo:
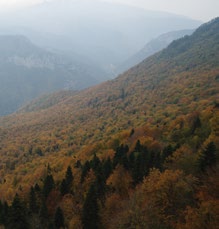
<svg viewBox="0 0 219 229"><path fill-rule="evenodd" d="M0 119L3 228L215 229L219 19L115 80Z"/></svg>

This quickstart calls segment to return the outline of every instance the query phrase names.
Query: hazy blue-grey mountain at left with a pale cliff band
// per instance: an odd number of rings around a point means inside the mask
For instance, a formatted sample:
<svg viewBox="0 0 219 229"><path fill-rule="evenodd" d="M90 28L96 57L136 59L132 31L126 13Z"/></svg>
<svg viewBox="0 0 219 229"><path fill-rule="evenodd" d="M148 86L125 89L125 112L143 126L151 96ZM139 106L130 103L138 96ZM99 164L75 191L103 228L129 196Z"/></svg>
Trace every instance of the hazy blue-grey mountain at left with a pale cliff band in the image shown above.
<svg viewBox="0 0 219 229"><path fill-rule="evenodd" d="M51 52L24 36L0 36L0 115L39 95L99 83L104 72L78 55Z"/></svg>

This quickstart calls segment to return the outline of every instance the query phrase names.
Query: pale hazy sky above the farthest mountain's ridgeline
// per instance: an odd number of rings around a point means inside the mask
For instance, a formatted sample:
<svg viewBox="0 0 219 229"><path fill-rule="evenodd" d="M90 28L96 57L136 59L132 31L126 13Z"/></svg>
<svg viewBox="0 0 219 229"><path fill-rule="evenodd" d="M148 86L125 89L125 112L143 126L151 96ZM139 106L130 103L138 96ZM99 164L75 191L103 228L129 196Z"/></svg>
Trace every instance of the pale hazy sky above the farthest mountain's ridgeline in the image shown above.
<svg viewBox="0 0 219 229"><path fill-rule="evenodd" d="M54 0L0 0L0 9L22 8L31 4L50 2ZM56 0L57 1L57 0ZM79 1L79 0L59 0ZM83 0L80 0L83 1ZM89 0L92 1L92 0ZM193 19L208 21L219 16L219 0L100 0L123 3L158 11L181 14Z"/></svg>

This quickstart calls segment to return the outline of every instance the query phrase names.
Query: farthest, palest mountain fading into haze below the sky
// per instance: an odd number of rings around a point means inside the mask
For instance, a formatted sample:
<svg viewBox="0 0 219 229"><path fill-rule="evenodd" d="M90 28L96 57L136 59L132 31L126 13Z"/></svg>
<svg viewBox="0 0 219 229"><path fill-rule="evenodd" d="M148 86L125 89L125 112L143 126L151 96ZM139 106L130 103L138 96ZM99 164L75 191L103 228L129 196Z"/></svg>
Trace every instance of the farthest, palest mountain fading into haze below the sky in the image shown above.
<svg viewBox="0 0 219 229"><path fill-rule="evenodd" d="M194 29L201 22L104 1L43 1L0 18L0 33L23 34L35 44L88 57L109 74L153 37Z"/></svg>

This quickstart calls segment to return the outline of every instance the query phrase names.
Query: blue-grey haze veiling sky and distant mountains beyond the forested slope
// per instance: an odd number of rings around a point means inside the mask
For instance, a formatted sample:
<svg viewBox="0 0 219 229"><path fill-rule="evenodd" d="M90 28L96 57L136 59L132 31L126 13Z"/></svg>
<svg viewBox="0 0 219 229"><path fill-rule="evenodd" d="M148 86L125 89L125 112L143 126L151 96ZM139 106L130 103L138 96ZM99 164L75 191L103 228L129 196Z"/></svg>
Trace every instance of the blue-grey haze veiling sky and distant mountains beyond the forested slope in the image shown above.
<svg viewBox="0 0 219 229"><path fill-rule="evenodd" d="M0 116L42 94L115 78L217 16L217 5L0 0Z"/></svg>

